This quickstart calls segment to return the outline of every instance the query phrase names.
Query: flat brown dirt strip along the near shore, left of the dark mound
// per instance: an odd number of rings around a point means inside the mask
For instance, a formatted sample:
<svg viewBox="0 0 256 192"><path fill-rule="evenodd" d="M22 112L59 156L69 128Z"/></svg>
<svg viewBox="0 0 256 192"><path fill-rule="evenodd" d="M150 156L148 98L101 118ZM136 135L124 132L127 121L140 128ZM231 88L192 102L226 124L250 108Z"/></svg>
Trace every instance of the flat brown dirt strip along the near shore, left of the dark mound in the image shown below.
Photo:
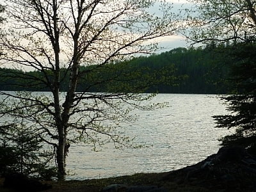
<svg viewBox="0 0 256 192"><path fill-rule="evenodd" d="M170 178L170 172L166 173L137 173L135 175L114 177L108 179L92 179L92 180L67 180L65 182L46 182L52 185L52 189L47 189L45 192L99 192L103 188L111 184L125 184L127 186L147 186L147 185L157 185L168 189L168 191L211 191L200 186L190 186L189 184L180 183L179 172L177 172L177 178ZM171 176L172 177L172 176ZM8 189L3 187L2 178L0 180L0 191L1 192L14 192L14 189Z"/></svg>

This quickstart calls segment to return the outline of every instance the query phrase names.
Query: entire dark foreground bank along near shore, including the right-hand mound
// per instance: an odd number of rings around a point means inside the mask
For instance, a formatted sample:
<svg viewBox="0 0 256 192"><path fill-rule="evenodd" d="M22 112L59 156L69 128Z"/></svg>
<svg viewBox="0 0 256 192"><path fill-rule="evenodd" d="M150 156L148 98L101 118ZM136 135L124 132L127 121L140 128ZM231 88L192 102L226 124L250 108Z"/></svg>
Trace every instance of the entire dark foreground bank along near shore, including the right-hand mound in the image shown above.
<svg viewBox="0 0 256 192"><path fill-rule="evenodd" d="M0 191L15 191L4 188L0 180ZM43 182L44 183L44 182ZM115 188L106 187L116 184ZM164 173L138 173L108 179L67 180L47 182L52 185L45 192L84 191L136 191L131 186L157 186L151 191L256 191L256 159L241 147L223 147L218 154L180 170ZM105 189L104 189L105 188ZM18 191L22 191L18 188ZM28 191L28 190L24 190ZM137 188L140 191L140 188Z"/></svg>

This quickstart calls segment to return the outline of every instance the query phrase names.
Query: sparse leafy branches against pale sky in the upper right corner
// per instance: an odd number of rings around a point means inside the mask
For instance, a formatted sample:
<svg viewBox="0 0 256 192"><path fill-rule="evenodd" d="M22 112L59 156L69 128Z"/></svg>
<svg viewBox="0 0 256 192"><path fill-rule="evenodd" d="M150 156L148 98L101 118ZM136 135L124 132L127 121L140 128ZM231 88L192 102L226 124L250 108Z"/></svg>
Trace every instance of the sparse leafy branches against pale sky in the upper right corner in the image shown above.
<svg viewBox="0 0 256 192"><path fill-rule="evenodd" d="M255 3L251 0L189 0L184 34L203 44L236 44L255 39ZM195 14L196 13L196 14Z"/></svg>

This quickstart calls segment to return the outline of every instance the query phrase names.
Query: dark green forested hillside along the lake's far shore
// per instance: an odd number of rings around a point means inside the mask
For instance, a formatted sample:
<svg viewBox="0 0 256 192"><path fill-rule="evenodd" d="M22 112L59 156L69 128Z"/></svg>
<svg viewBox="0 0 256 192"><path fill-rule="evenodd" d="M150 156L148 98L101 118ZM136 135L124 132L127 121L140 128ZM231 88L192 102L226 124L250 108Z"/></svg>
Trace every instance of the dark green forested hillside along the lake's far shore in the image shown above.
<svg viewBox="0 0 256 192"><path fill-rule="evenodd" d="M224 49L225 50L225 49ZM227 65L223 65L223 61L227 60L223 52L216 51L212 47L203 48L177 48L172 51L163 52L161 54L153 54L151 56L140 56L133 58L126 63L111 63L106 67L97 68L97 65L91 65L88 67L79 68L80 71L84 71L84 77L77 84L77 92L84 92L86 87L87 92L104 92L109 91L109 88L120 88L122 92L122 86L118 84L106 84L100 83L97 85L97 81L104 82L104 78L117 78L118 73L122 71L119 81L129 81L130 84L138 84L143 79L131 79L125 77L136 71L142 72L150 70L148 77L154 76L152 79L164 79L163 76L172 76L173 73L177 78L170 83L154 84L148 88L144 88L143 92L159 92L159 93L227 93L227 85L225 85L224 79L228 74ZM111 67L109 67L111 65ZM113 70L113 66L115 70ZM128 66L128 67L127 67ZM157 73L157 70L166 68L166 72ZM117 69L117 70L116 70ZM170 74L168 74L170 70ZM69 75L67 69L61 69L61 91L68 89ZM125 71L125 72L124 72ZM47 76L51 79L52 71L45 71ZM38 79L44 79L45 76L39 71L24 72L22 70L12 68L0 68L0 90L3 91L49 91L47 86L44 86L42 82L36 82L29 80L29 76L38 77ZM138 76L138 74L136 75ZM53 76L52 76L53 77ZM122 79L121 79L122 78ZM145 78L145 76L143 76ZM168 77L170 78L170 77ZM31 78L34 79L34 78ZM167 79L167 81L169 81ZM52 79L54 82L54 79ZM175 82L175 83L173 83ZM90 86L92 84L93 86ZM22 86L21 86L22 85ZM125 84L127 86L127 84ZM131 89L132 90L132 89Z"/></svg>

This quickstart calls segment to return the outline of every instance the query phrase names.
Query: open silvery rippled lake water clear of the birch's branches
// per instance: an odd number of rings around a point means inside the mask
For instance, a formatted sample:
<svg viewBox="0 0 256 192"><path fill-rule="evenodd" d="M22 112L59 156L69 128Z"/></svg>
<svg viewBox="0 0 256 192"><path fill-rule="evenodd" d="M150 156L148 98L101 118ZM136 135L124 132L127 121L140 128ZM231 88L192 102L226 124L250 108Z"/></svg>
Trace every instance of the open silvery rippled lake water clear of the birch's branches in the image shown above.
<svg viewBox="0 0 256 192"><path fill-rule="evenodd" d="M227 114L216 95L159 94L156 102L168 107L135 111L138 121L127 126L127 135L147 148L115 149L111 143L100 152L72 145L67 157L67 179L98 179L134 173L168 172L198 163L218 152L219 138L229 133L214 127L212 115Z"/></svg>

